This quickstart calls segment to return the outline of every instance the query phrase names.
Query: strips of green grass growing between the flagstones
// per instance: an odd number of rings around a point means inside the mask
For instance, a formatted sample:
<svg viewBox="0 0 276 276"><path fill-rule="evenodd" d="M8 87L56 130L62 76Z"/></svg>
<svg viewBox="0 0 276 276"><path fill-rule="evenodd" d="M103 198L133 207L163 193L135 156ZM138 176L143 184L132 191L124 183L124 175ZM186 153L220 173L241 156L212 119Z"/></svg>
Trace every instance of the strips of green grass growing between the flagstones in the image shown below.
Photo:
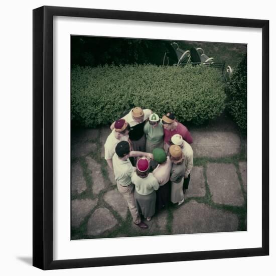
<svg viewBox="0 0 276 276"><path fill-rule="evenodd" d="M223 158L194 158L194 166L202 166L203 167L203 174L204 174L204 180L205 180L205 196L203 197L190 197L186 198L184 205L187 204L191 200L195 200L198 203L203 203L211 208L214 209L221 209L225 211L232 212L233 214L237 215L238 217L238 229L237 231L244 231L246 230L246 214L247 214L247 197L246 192L244 190L244 187L242 185L242 179L241 174L239 171L239 165L238 163L241 161L246 161L246 151L245 151L245 143L246 143L246 137L240 135L240 152L237 155L233 155L230 157L223 157ZM107 163L106 161L101 158L101 148L102 143L100 140L92 139L88 142L95 143L97 145L97 150L93 153L89 153L87 156L90 156L93 158L98 164L101 166L101 173L105 181L105 188L99 192L98 195L93 195L92 193L92 185L93 185L93 179L90 174L90 170L88 169L88 165L85 161L85 157L81 158L75 158L72 159L72 162L80 162L80 165L83 169L83 176L86 181L87 189L82 192L79 195L72 195L71 200L75 199L98 199L97 205L87 214L87 216L84 218L84 220L81 222L80 226L78 228L71 228L71 238L72 239L89 239L89 238L114 238L114 237L134 237L134 236L149 236L149 235L162 235L161 231L141 231L138 227L133 227L133 221L132 217L128 211L127 217L125 220L122 219L122 217L112 209L112 207L103 200L103 195L109 191L116 188L116 186L112 185L109 176L108 176L108 169L107 169ZM225 163L225 164L233 164L236 168L237 176L239 179L239 183L241 186L242 194L244 197L244 205L241 207L236 206L228 206L228 205L221 205L221 204L215 204L212 201L212 195L210 193L210 189L207 182L207 175L206 175L206 169L207 169L207 163ZM93 214L93 212L98 208L107 208L111 214L115 217L117 220L117 225L111 229L105 231L103 234L98 236L91 236L87 234L87 223L90 218L90 216ZM166 224L166 234L172 233L172 227L173 227L173 218L174 218L174 210L176 210L177 207L170 205L167 208L168 216L167 216L167 224Z"/></svg>

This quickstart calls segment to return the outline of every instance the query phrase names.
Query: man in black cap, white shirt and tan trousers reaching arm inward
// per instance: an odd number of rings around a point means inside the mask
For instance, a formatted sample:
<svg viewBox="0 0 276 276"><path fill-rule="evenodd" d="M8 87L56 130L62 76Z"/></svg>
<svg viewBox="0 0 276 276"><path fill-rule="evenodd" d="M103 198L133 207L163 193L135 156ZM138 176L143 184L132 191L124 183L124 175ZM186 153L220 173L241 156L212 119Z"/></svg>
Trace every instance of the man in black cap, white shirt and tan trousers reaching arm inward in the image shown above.
<svg viewBox="0 0 276 276"><path fill-rule="evenodd" d="M130 144L126 141L119 142L115 147L115 154L112 158L113 172L115 181L117 183L118 191L122 194L126 201L134 224L142 229L147 229L148 225L142 222L134 200L134 185L131 182L131 177L134 173L135 167L132 167L129 157L146 156L153 158L152 154L143 152L130 152Z"/></svg>

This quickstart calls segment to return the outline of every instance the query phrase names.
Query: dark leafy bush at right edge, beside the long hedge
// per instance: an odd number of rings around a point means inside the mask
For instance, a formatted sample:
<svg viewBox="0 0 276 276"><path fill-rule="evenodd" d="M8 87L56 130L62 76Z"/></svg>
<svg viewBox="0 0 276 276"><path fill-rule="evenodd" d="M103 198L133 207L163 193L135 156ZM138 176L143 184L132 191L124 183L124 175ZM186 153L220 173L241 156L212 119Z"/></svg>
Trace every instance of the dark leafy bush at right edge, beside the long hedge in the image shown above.
<svg viewBox="0 0 276 276"><path fill-rule="evenodd" d="M227 110L243 132L247 129L247 57L243 56L226 87Z"/></svg>

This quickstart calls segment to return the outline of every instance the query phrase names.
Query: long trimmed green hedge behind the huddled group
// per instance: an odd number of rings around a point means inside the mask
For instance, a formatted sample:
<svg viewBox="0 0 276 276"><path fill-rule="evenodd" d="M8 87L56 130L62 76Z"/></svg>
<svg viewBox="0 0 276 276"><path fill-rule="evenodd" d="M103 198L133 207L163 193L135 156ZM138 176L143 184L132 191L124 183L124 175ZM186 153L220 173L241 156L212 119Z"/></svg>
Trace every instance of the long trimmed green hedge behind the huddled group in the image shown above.
<svg viewBox="0 0 276 276"><path fill-rule="evenodd" d="M160 116L175 112L181 122L203 123L225 107L221 75L206 66L126 65L72 69L72 120L95 127L133 106Z"/></svg>

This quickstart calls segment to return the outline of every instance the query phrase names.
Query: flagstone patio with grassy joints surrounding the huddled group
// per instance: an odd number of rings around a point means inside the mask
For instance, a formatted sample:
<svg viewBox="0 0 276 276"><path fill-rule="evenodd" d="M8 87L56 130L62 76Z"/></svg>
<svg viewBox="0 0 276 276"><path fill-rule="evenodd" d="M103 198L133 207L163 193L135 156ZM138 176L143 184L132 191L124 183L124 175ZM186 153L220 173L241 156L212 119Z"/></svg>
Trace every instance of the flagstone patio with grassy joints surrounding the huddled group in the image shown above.
<svg viewBox="0 0 276 276"><path fill-rule="evenodd" d="M171 204L133 224L104 160L111 130L72 130L72 239L229 232L246 230L246 139L220 119L190 129L194 168L181 206Z"/></svg>

